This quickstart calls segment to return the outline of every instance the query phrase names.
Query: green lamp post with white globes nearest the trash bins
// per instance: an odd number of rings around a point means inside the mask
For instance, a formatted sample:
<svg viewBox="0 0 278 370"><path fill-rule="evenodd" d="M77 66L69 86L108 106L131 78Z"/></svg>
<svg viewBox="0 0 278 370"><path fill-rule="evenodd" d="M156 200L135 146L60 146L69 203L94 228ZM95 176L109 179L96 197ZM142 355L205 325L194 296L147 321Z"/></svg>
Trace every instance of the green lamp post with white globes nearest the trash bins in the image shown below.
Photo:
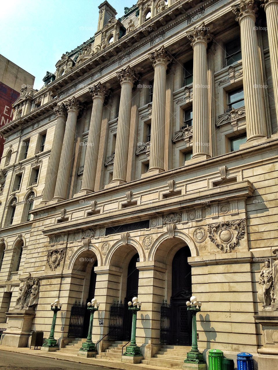
<svg viewBox="0 0 278 370"><path fill-rule="evenodd" d="M198 343L197 343L197 324L196 324L196 314L197 312L201 311L201 302L197 302L197 298L192 296L190 301L186 302L187 310L191 312L192 315L192 347L191 350L188 352L185 363L193 363L193 364L205 364L203 360L203 354L198 350Z"/></svg>

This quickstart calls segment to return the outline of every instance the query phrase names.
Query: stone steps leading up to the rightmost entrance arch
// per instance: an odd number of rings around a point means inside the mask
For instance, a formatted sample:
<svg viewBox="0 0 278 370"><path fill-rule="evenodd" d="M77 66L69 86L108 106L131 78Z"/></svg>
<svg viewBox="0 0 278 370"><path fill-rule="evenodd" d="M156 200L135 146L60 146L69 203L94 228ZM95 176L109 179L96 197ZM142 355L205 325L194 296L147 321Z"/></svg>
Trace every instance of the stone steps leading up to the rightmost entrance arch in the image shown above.
<svg viewBox="0 0 278 370"><path fill-rule="evenodd" d="M150 360L142 360L143 364L152 366L169 367L170 369L182 369L185 365L187 353L191 347L187 346L162 346L160 351Z"/></svg>

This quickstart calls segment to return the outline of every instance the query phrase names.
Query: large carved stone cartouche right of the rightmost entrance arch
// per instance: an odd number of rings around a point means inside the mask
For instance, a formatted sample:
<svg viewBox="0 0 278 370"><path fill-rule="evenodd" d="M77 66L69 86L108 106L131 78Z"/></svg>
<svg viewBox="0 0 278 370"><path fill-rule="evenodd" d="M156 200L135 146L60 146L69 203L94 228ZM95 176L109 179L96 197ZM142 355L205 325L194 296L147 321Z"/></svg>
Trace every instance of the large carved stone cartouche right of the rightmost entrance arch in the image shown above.
<svg viewBox="0 0 278 370"><path fill-rule="evenodd" d="M208 224L208 237L223 253L232 252L245 235L245 220L223 221Z"/></svg>

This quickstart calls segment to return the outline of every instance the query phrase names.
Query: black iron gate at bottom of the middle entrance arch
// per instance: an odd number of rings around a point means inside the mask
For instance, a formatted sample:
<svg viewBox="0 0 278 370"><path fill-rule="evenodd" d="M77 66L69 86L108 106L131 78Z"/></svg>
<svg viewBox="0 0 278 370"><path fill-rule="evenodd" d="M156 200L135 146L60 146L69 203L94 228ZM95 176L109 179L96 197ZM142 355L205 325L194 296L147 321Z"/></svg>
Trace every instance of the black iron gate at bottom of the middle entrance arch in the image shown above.
<svg viewBox="0 0 278 370"><path fill-rule="evenodd" d="M124 314L122 301L115 301L110 307L109 340L122 340Z"/></svg>

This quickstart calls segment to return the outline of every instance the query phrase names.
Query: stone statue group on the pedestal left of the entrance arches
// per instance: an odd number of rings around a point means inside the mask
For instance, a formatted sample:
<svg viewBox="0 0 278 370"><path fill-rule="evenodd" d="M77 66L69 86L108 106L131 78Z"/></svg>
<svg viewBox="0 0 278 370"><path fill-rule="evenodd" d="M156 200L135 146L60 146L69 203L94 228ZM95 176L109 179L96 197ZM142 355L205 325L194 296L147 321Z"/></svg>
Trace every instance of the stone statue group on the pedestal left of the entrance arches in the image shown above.
<svg viewBox="0 0 278 370"><path fill-rule="evenodd" d="M31 307L37 305L39 286L39 280L33 279L29 273L23 280L23 285L19 288L19 296L16 300L16 306Z"/></svg>

